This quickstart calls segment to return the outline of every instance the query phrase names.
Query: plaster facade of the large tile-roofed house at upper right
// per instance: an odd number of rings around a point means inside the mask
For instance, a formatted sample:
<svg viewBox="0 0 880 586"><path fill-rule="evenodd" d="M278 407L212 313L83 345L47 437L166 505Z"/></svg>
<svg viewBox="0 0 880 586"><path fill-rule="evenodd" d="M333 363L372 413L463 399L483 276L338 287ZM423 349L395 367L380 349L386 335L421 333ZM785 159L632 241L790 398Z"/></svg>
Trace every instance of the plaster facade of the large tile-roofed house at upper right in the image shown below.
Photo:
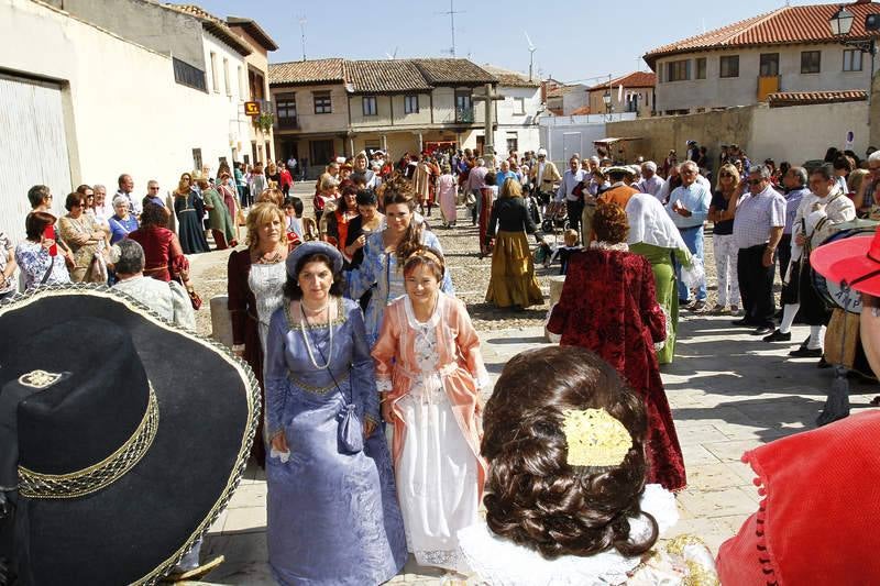
<svg viewBox="0 0 880 586"><path fill-rule="evenodd" d="M666 57L657 62L658 111L697 108L748 106L758 102L758 74L760 55L779 53L780 91L817 91L867 89L869 85L870 56L862 56L861 71L844 71L844 45L787 45L735 51L711 51ZM801 74L801 53L820 51L821 71ZM721 78L721 56L739 55L739 77ZM694 59L706 57L706 78L693 79L696 75ZM661 81L666 78L666 64L691 59L691 80Z"/></svg>

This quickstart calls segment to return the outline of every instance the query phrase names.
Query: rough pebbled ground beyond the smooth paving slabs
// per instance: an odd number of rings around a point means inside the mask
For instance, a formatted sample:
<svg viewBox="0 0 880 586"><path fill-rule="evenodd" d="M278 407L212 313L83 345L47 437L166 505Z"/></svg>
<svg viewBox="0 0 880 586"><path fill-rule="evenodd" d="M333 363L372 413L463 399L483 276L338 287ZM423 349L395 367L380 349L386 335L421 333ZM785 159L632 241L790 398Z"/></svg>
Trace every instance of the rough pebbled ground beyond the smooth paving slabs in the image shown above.
<svg viewBox="0 0 880 586"><path fill-rule="evenodd" d="M302 199L306 207L306 214L311 214L311 194L312 186L298 184L294 189L295 195ZM532 306L528 309L515 311L512 309L498 309L486 303L485 296L492 272L492 258L480 258L479 255L479 231L471 225L469 210L464 206L458 208L458 226L443 228L440 220L440 212L435 209L428 223L440 239L443 252L452 273L452 283L460 299L468 303L471 318L477 330L493 331L516 328L540 327L547 317L549 309L550 285L549 277L559 273L559 266L553 265L549 268L536 267L538 283L544 295L544 302L540 306ZM241 229L244 236L244 229ZM530 239L535 246L534 239ZM552 241L552 236L548 240ZM561 234L557 234L557 240L561 243ZM243 243L243 237L241 239ZM226 261L229 253L212 253L205 259L199 258L198 269L195 270L195 281L197 290L205 300L205 307L197 313L198 331L210 333L211 318L208 301L211 297L226 295ZM208 258L209 257L209 258ZM708 284L708 298L706 308L711 308L717 300L717 280L715 272L715 261L712 251L712 233L706 232L705 239L705 269ZM776 290L779 292L780 283L777 277ZM689 312L683 311L682 317L686 318Z"/></svg>

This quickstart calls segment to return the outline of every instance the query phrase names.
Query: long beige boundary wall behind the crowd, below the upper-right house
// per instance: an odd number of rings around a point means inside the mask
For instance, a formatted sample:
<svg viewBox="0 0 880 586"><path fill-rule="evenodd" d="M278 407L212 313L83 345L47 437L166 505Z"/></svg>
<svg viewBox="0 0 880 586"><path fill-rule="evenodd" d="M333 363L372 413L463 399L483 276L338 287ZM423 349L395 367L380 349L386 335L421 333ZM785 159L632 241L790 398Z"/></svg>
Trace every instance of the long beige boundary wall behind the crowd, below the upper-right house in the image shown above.
<svg viewBox="0 0 880 586"><path fill-rule="evenodd" d="M670 148L681 158L685 143L694 140L708 148L717 165L722 144L738 144L752 162L773 158L800 164L822 158L828 146L844 148L853 131L853 150L862 154L869 144L866 102L768 108L765 104L730 108L676 117L656 117L610 122L608 136L641 136L646 158L662 162Z"/></svg>

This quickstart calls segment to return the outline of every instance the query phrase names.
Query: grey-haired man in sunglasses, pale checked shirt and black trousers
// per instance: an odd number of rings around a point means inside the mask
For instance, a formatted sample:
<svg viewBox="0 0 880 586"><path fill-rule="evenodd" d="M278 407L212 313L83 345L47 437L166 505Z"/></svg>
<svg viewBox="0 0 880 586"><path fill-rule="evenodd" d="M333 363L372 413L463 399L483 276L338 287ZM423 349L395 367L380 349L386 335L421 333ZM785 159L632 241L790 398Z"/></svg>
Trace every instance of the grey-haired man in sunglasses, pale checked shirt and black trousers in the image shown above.
<svg viewBox="0 0 880 586"><path fill-rule="evenodd" d="M785 198L770 185L767 167L752 167L748 177L749 192L739 201L734 219L734 242L739 248L736 273L746 314L733 323L755 327L756 335L766 335L774 330L773 275L785 228Z"/></svg>

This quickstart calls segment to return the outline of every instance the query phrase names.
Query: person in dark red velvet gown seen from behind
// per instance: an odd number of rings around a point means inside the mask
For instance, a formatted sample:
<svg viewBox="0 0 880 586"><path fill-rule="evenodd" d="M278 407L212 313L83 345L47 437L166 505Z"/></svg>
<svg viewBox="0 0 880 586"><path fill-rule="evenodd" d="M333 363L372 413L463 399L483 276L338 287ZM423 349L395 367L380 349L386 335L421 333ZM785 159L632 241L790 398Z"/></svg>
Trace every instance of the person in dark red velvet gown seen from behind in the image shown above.
<svg viewBox="0 0 880 586"><path fill-rule="evenodd" d="M672 422L654 344L666 340L667 318L657 302L651 264L628 252L629 225L617 204L603 203L593 217L596 242L574 254L562 297L548 330L563 345L602 356L645 400L648 411L648 483L668 490L686 484L684 458Z"/></svg>

